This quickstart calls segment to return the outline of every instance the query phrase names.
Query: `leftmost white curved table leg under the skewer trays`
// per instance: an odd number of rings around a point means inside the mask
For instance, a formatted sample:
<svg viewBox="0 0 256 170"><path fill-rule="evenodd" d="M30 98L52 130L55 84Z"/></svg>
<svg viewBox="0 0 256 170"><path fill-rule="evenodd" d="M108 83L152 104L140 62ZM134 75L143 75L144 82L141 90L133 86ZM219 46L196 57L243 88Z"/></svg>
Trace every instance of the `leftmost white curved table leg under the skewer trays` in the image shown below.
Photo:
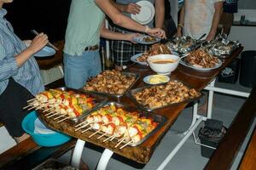
<svg viewBox="0 0 256 170"><path fill-rule="evenodd" d="M81 140L81 139L77 140L77 144L75 145L75 148L73 150L71 166L79 168L82 153L83 153L83 150L84 150L84 144L85 144L84 140Z"/></svg>

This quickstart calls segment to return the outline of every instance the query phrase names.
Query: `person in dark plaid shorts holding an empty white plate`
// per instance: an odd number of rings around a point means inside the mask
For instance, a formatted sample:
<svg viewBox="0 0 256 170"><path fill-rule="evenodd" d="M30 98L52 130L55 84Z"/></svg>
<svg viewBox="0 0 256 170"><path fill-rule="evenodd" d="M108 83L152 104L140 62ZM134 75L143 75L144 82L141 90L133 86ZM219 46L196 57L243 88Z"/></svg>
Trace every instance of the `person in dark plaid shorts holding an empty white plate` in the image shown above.
<svg viewBox="0 0 256 170"><path fill-rule="evenodd" d="M154 20L151 20L146 26L163 28L165 20L165 0L147 0L154 4L155 15ZM111 0L113 5L119 9L120 12L131 18L131 14L139 14L140 6L137 4L139 0ZM124 29L119 26L113 26L113 31L117 32L132 32L131 29ZM148 50L150 45L133 44L125 41L113 41L111 43L111 52L118 70L123 69L124 65L131 64L131 56L140 54Z"/></svg>

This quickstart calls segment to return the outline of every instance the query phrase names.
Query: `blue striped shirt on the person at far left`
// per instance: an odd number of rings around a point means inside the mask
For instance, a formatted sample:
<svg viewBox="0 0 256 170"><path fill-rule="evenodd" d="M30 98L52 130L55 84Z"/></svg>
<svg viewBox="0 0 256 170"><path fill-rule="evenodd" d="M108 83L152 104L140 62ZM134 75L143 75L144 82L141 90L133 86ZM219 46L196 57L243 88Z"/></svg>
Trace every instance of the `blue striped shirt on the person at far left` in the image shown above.
<svg viewBox="0 0 256 170"><path fill-rule="evenodd" d="M9 21L4 19L7 11L0 8L0 94L8 86L9 78L30 91L33 95L44 91L44 84L36 59L32 56L23 65L18 67L15 59L26 48L24 42L14 33Z"/></svg>

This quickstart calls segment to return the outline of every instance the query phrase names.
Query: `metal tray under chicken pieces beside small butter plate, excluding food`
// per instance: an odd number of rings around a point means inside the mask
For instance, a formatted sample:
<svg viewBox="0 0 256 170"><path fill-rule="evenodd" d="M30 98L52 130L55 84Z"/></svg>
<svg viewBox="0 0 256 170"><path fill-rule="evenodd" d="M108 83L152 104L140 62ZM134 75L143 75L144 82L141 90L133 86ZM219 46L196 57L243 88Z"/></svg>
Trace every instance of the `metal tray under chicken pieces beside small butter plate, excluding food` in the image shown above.
<svg viewBox="0 0 256 170"><path fill-rule="evenodd" d="M171 80L171 81L177 81L177 80ZM180 82L180 81L177 81L177 82ZM183 82L182 82L183 83ZM145 86L143 88L135 88L135 89L132 89L130 90L129 94L127 94L127 96L141 109L143 110L146 110L146 111L154 111L156 109L162 109L162 108L165 108L165 107L169 107L169 106L176 106L176 105L183 105L183 104L186 104L186 103L190 103L192 101L195 101L195 100L198 100L201 98L202 94L201 92L198 92L196 91L197 93L199 93L199 96L198 97L195 97L193 99L185 99L181 102L177 102L177 103L172 103L172 104L167 104L167 105L164 105L164 106L161 106L161 107L155 107L155 108L149 108L149 106L147 105L141 105L139 102L137 102L137 99L135 99L134 97L134 94L136 94L137 92L140 92L142 91L143 89L145 88L151 88L151 87L154 87L154 86L162 86L163 84L159 84L159 85L148 85L148 86ZM184 86L190 88L187 84L183 83Z"/></svg>

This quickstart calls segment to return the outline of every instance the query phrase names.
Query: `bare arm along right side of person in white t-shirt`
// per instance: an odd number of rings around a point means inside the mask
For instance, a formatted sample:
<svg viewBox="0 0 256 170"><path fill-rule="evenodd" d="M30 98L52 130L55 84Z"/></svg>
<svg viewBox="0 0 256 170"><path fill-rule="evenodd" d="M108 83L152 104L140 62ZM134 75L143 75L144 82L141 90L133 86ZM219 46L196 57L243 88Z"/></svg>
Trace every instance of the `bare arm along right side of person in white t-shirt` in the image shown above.
<svg viewBox="0 0 256 170"><path fill-rule="evenodd" d="M214 8L215 8L215 12L212 18L211 30L206 38L207 41L211 41L215 37L216 31L218 29L218 22L220 20L220 17L223 11L223 2L219 1L217 3L214 3Z"/></svg>

